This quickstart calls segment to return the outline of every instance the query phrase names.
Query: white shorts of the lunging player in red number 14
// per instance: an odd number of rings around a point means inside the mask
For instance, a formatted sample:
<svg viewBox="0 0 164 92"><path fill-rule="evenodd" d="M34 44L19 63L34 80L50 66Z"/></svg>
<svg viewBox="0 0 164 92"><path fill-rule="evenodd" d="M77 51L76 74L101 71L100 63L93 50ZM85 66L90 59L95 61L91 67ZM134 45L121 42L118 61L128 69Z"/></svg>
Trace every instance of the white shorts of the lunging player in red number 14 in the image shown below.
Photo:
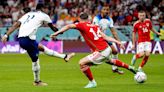
<svg viewBox="0 0 164 92"><path fill-rule="evenodd" d="M105 60L110 60L111 55L111 48L107 47L105 50L98 52L95 51L92 54L89 54L87 58L93 63L93 64L101 64Z"/></svg>

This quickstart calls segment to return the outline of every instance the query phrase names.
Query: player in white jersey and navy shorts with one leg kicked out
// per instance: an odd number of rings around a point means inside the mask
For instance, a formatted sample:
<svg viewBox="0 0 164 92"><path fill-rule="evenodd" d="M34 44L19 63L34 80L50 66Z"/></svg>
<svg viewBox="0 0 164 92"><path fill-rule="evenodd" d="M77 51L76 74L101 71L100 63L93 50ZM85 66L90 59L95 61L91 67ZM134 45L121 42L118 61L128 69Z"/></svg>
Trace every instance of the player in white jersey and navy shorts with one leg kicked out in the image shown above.
<svg viewBox="0 0 164 92"><path fill-rule="evenodd" d="M36 86L46 86L47 83L44 83L40 80L40 64L39 64L39 50L43 50L47 54L55 54L54 51L50 51L46 47L38 45L36 42L36 32L37 29L43 24L43 22L47 22L48 26L53 30L57 31L58 29L52 25L52 21L50 17L46 14L48 13L48 7L43 4L38 4L35 12L28 12L23 15L16 23L13 24L11 28L7 31L7 33L2 37L2 42L5 43L7 41L8 36L17 28L19 28L19 44L25 49L32 60L32 70L34 75L34 85ZM65 58L65 60L69 60L70 57L64 54L59 54L61 58ZM56 55L56 56L58 56ZM58 56L58 57L59 57Z"/></svg>

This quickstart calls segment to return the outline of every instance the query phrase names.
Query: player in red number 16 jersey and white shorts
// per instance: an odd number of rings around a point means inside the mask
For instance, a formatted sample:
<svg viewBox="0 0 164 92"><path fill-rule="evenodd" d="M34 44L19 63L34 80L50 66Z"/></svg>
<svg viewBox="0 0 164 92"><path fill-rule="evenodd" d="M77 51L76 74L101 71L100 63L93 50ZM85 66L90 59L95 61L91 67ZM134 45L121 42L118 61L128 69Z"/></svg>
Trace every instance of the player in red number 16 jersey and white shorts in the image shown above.
<svg viewBox="0 0 164 92"><path fill-rule="evenodd" d="M138 13L139 20L136 21L133 25L134 30L132 34L132 42L133 47L132 50L135 48L136 42L136 33L138 33L138 43L137 43L137 54L135 54L131 60L131 65L134 66L135 61L138 58L142 58L142 63L139 65L138 71L143 71L142 68L148 61L150 52L151 52L151 42L150 42L150 31L156 33L157 35L161 35L159 32L156 32L153 27L150 19L146 19L145 11L139 11Z"/></svg>

